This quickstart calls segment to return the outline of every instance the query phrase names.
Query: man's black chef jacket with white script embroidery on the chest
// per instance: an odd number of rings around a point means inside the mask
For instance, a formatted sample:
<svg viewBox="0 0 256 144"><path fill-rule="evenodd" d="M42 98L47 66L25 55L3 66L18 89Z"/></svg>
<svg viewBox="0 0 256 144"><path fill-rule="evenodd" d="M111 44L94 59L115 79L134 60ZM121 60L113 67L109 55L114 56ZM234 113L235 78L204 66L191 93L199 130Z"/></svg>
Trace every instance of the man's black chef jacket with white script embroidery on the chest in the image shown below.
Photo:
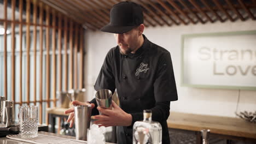
<svg viewBox="0 0 256 144"><path fill-rule="evenodd" d="M107 53L95 90L117 88L120 107L132 115L132 125L118 127L118 143L132 143L132 126L143 120L143 110L152 109L152 120L162 126L162 143L170 143L166 119L170 101L178 99L170 52L150 42L144 43L136 53L122 55L119 46ZM94 103L97 107L96 100ZM97 109L92 115L98 115Z"/></svg>

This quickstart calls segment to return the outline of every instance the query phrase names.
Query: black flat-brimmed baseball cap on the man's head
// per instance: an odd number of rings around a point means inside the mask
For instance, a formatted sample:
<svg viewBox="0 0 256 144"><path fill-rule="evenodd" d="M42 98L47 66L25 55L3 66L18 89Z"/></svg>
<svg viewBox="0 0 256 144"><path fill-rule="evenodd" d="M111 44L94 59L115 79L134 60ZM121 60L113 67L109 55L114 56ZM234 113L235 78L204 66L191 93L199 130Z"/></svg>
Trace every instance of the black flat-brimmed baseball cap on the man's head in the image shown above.
<svg viewBox="0 0 256 144"><path fill-rule="evenodd" d="M133 2L120 2L110 10L110 22L101 28L102 32L126 33L143 23L141 5Z"/></svg>

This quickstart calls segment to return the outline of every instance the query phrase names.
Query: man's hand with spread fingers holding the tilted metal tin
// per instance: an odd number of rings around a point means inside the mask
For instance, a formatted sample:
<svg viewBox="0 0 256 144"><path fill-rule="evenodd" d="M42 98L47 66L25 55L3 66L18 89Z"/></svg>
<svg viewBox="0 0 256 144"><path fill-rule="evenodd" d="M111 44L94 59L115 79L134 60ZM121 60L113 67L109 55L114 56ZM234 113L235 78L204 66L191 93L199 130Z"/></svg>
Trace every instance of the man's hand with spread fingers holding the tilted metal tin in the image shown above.
<svg viewBox="0 0 256 144"><path fill-rule="evenodd" d="M132 116L129 113L123 111L115 102L112 100L113 110L103 109L97 107L98 111L104 113L104 115L92 116L92 119L97 119L95 124L100 124L101 126L129 126L132 123Z"/></svg>

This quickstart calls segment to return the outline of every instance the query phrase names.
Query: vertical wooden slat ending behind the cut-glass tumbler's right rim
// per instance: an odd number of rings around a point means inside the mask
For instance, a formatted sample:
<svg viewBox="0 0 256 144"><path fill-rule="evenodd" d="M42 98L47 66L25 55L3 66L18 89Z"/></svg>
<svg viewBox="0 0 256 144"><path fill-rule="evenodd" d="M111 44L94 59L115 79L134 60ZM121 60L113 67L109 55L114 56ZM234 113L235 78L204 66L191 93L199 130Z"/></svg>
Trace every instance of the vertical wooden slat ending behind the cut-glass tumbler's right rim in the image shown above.
<svg viewBox="0 0 256 144"><path fill-rule="evenodd" d="M33 2L33 23L37 24L37 1L34 0ZM34 105L37 105L37 26L34 25L33 29L33 37L34 37Z"/></svg>

